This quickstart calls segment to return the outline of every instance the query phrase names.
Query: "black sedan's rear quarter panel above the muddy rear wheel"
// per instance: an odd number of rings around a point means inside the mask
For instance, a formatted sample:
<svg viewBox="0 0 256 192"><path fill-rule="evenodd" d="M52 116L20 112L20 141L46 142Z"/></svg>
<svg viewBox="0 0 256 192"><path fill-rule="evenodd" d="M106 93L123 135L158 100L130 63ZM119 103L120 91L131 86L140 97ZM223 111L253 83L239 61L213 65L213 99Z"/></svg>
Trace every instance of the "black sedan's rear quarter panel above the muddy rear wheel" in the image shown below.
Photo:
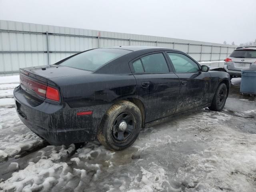
<svg viewBox="0 0 256 192"><path fill-rule="evenodd" d="M71 108L112 104L115 100L136 97L132 74L87 74L52 78L60 86L63 101Z"/></svg>

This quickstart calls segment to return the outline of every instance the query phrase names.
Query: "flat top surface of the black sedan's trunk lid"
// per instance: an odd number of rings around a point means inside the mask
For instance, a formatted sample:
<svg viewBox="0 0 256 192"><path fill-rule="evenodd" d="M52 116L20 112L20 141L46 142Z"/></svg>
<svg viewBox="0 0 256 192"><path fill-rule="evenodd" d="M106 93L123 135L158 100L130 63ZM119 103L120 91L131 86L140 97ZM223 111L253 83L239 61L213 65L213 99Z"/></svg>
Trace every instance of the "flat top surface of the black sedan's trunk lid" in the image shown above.
<svg viewBox="0 0 256 192"><path fill-rule="evenodd" d="M37 66L37 67L28 67L22 68L28 73L32 73L47 79L57 78L57 77L64 77L64 76L76 76L76 75L85 75L92 73L91 71L71 68L67 66L60 66L60 65L44 65L44 66Z"/></svg>

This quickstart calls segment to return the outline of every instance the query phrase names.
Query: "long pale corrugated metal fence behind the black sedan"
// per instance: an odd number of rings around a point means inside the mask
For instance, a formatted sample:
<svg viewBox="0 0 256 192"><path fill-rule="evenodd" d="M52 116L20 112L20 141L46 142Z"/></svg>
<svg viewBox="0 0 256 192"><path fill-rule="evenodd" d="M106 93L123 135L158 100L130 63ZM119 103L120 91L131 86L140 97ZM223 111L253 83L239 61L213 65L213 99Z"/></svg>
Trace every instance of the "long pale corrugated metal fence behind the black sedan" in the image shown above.
<svg viewBox="0 0 256 192"><path fill-rule="evenodd" d="M197 61L225 59L236 46L0 20L0 73L54 64L77 52L120 45L182 50Z"/></svg>

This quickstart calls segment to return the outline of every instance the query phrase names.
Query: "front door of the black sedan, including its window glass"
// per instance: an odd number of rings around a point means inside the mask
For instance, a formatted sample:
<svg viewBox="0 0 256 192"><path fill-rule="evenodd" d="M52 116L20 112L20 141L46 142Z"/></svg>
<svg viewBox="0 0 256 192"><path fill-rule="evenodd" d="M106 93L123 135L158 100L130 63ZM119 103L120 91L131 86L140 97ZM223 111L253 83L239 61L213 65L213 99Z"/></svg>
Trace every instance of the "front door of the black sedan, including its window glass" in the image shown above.
<svg viewBox="0 0 256 192"><path fill-rule="evenodd" d="M210 73L202 72L201 66L186 54L167 52L167 55L174 73L180 79L180 95L175 113L209 104Z"/></svg>

